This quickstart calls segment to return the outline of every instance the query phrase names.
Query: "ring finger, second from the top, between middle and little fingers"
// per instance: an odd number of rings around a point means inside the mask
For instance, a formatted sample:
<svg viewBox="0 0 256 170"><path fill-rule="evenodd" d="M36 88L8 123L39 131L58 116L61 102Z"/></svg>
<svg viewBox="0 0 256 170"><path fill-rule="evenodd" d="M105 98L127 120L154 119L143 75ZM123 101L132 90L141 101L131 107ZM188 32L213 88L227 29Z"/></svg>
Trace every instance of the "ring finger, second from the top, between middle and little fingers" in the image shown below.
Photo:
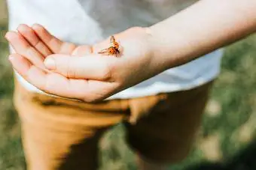
<svg viewBox="0 0 256 170"><path fill-rule="evenodd" d="M35 34L35 31L30 28L28 25L21 24L17 28L17 30L20 32L20 34L23 35L23 37L26 38L26 40L40 52L44 57L47 55L51 55L52 52L50 49L41 41L41 39Z"/></svg>

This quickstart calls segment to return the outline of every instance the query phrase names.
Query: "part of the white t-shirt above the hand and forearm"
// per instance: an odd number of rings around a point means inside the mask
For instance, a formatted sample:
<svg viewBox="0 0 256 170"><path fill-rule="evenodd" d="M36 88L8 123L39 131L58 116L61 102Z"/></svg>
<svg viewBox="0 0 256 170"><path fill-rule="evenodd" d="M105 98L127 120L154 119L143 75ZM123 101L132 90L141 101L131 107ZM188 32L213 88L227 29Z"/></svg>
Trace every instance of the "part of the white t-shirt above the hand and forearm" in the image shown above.
<svg viewBox="0 0 256 170"><path fill-rule="evenodd" d="M126 28L153 25L196 1L8 0L8 4L14 27L18 22L38 22L64 40L95 43Z"/></svg>

